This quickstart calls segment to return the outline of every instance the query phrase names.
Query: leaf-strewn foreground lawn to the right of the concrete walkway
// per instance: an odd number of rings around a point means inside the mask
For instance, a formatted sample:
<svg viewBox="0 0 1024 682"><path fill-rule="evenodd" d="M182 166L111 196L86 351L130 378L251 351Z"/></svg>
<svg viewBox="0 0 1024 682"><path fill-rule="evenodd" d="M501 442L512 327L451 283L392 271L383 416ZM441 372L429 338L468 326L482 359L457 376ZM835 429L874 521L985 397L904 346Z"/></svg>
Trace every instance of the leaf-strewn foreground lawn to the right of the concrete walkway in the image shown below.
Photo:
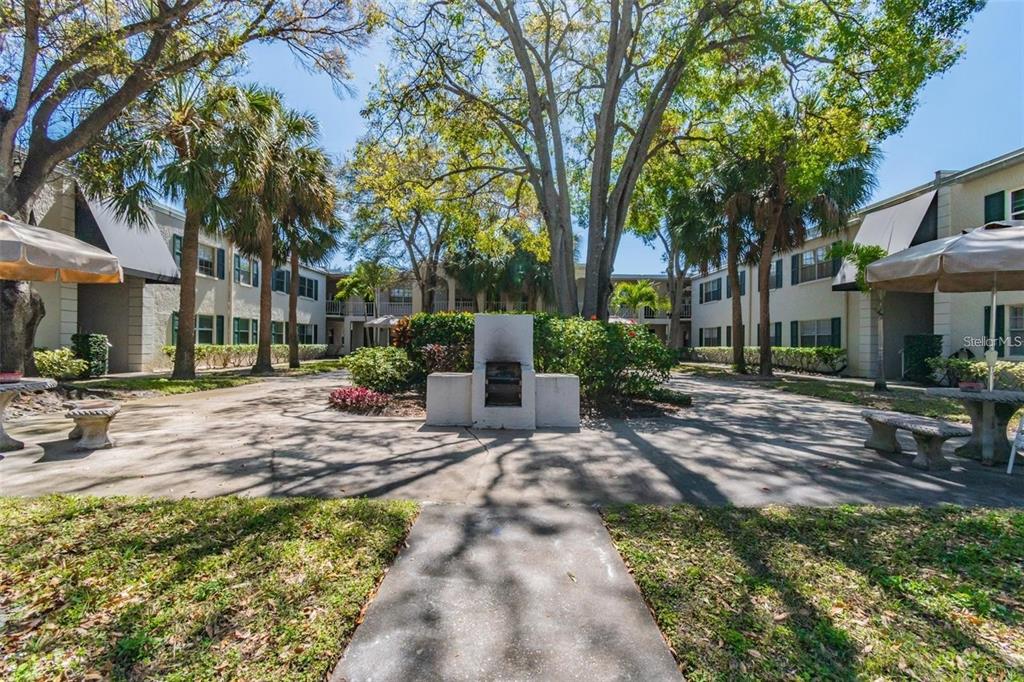
<svg viewBox="0 0 1024 682"><path fill-rule="evenodd" d="M1024 679L1024 511L604 519L687 679Z"/></svg>

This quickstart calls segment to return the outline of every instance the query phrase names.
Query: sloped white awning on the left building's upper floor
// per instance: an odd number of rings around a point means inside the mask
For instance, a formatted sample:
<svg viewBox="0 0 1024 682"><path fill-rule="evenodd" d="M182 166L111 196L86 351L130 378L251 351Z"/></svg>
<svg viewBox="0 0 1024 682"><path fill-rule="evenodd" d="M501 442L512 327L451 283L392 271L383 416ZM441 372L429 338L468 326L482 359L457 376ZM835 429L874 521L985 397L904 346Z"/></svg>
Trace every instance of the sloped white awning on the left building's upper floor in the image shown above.
<svg viewBox="0 0 1024 682"><path fill-rule="evenodd" d="M75 231L80 239L117 256L125 274L157 282L178 282L178 266L156 224L133 227L118 218L104 202L86 199L85 204L92 215L91 220L90 216L78 217Z"/></svg>

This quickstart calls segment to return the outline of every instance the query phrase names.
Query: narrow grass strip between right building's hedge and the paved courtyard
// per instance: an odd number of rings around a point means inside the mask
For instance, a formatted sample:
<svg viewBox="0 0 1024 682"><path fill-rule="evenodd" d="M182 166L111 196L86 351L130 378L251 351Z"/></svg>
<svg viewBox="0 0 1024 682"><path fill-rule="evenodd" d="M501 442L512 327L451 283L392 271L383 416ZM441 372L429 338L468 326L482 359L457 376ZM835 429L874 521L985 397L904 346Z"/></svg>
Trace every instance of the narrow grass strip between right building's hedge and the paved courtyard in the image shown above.
<svg viewBox="0 0 1024 682"><path fill-rule="evenodd" d="M878 392L866 384L819 378L799 379L776 377L768 380L743 379L727 368L702 365L700 363L684 363L677 366L676 370L683 374L698 377L732 378L737 381L744 381L744 385L752 387L771 388L825 400L859 404L863 408L874 410L892 410L908 415L922 415L955 422L971 421L971 418L964 411L964 406L956 400L933 397L926 395L924 391L908 388L890 388L887 392Z"/></svg>

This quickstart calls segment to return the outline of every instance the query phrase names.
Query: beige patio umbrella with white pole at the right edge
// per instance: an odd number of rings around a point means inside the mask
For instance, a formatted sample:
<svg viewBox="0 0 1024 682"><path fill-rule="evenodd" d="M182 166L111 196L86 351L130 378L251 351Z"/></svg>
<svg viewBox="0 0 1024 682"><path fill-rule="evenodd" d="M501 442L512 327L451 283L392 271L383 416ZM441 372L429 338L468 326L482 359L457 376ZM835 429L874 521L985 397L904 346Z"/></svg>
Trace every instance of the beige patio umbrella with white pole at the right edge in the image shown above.
<svg viewBox="0 0 1024 682"><path fill-rule="evenodd" d="M995 299L998 290L1024 289L1024 220L1000 220L927 242L867 266L867 283L882 291L991 291L988 389L995 383Z"/></svg>

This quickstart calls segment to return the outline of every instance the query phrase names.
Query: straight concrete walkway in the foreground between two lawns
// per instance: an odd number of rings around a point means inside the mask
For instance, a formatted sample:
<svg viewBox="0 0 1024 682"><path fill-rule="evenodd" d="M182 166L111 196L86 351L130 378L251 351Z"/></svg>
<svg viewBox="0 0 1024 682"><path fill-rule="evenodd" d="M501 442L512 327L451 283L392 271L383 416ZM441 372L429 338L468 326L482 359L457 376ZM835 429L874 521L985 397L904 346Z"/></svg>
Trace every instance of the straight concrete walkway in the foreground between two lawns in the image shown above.
<svg viewBox="0 0 1024 682"><path fill-rule="evenodd" d="M333 680L679 680L593 509L427 505Z"/></svg>

